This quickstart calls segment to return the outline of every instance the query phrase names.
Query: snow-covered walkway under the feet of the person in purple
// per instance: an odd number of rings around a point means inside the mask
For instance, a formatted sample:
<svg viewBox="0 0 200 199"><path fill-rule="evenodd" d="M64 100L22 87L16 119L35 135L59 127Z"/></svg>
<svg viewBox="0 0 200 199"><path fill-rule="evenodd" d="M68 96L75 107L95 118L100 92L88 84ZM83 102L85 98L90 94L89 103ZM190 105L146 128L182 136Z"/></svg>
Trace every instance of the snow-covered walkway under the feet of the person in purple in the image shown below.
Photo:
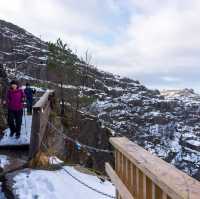
<svg viewBox="0 0 200 199"><path fill-rule="evenodd" d="M20 138L16 139L15 136L10 137L9 136L10 130L6 129L4 131L5 134L3 138L0 139L0 146L30 144L31 125L32 125L32 116L27 114L23 115Z"/></svg>

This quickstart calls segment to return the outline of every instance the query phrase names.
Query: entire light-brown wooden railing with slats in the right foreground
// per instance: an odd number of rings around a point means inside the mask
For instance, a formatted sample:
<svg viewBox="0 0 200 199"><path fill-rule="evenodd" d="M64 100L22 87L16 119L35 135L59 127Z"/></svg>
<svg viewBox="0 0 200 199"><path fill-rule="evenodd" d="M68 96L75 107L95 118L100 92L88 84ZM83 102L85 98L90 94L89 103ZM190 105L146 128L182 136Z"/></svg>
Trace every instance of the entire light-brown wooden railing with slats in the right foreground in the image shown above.
<svg viewBox="0 0 200 199"><path fill-rule="evenodd" d="M150 154L127 138L111 138L115 170L106 172L117 199L200 199L200 182Z"/></svg>

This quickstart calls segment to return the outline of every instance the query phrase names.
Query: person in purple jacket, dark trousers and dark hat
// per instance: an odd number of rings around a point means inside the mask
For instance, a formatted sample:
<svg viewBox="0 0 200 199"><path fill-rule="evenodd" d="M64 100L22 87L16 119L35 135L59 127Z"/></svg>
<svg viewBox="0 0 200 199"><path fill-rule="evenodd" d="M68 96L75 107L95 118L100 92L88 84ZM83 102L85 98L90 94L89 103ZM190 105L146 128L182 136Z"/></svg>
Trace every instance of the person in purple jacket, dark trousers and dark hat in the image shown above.
<svg viewBox="0 0 200 199"><path fill-rule="evenodd" d="M7 92L8 126L10 128L10 136L12 137L15 134L17 139L21 133L24 99L25 94L19 88L18 82L11 81L10 89Z"/></svg>

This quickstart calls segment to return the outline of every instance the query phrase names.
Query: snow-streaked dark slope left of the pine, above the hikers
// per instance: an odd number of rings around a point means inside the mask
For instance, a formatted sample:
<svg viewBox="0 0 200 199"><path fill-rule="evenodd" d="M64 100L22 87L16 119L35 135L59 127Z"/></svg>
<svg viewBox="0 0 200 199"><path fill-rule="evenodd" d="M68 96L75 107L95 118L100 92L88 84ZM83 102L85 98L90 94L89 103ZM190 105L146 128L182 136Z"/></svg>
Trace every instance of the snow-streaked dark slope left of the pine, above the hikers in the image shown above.
<svg viewBox="0 0 200 199"><path fill-rule="evenodd" d="M44 78L47 61L47 44L26 30L0 20L0 55L3 63L19 69L26 75Z"/></svg>

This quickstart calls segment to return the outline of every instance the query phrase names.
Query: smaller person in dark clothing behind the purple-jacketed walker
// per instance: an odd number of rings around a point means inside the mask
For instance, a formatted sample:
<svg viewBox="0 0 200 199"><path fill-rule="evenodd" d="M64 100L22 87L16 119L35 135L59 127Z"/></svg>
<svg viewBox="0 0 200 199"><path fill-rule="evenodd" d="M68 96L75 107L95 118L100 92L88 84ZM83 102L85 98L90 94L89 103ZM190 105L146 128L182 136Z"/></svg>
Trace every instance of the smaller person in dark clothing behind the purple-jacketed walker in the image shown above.
<svg viewBox="0 0 200 199"><path fill-rule="evenodd" d="M24 89L24 93L26 95L26 104L27 104L27 113L29 115L32 114L32 107L33 107L33 95L35 94L36 90L30 87L29 83L26 83L26 88Z"/></svg>

